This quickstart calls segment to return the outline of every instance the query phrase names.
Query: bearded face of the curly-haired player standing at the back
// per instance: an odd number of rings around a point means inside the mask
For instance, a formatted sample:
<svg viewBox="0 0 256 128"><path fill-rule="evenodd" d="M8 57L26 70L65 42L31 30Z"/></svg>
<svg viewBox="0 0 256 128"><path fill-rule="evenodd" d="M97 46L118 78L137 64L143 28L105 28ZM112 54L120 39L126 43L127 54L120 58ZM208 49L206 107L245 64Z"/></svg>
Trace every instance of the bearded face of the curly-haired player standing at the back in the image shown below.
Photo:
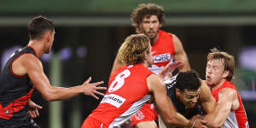
<svg viewBox="0 0 256 128"><path fill-rule="evenodd" d="M156 15L151 15L150 17L144 17L141 24L143 33L147 35L150 40L154 40L154 38L157 37L160 26L161 26L160 22Z"/></svg>

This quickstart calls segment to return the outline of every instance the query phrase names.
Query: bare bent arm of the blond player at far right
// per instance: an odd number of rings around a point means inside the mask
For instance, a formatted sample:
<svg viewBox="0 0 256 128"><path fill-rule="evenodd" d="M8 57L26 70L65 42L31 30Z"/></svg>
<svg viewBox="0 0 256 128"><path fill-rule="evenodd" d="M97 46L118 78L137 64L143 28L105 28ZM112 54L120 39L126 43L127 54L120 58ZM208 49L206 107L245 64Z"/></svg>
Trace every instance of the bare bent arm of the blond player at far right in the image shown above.
<svg viewBox="0 0 256 128"><path fill-rule="evenodd" d="M214 112L206 117L207 120L211 120L207 123L208 127L221 127L230 114L230 110L239 107L236 90L224 88L219 91L218 99Z"/></svg>

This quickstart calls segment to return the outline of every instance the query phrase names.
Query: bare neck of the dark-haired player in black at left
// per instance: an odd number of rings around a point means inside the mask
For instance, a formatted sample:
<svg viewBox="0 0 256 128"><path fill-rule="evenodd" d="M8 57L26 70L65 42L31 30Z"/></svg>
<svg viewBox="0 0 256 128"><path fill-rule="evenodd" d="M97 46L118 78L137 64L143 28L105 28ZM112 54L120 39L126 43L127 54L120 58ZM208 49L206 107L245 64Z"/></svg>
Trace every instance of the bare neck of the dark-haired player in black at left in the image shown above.
<svg viewBox="0 0 256 128"><path fill-rule="evenodd" d="M32 47L35 50L37 57L44 55L44 43L39 40L30 40L27 46Z"/></svg>

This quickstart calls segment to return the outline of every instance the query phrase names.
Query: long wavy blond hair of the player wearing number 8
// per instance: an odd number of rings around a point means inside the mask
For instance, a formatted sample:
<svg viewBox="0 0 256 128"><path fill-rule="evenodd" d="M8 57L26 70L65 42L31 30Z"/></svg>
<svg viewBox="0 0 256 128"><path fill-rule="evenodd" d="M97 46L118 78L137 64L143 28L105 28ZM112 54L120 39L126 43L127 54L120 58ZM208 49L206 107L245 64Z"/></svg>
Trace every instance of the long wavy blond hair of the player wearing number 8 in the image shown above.
<svg viewBox="0 0 256 128"><path fill-rule="evenodd" d="M125 65L134 65L144 61L144 53L149 51L150 40L146 35L134 34L125 38L118 52L118 59Z"/></svg>

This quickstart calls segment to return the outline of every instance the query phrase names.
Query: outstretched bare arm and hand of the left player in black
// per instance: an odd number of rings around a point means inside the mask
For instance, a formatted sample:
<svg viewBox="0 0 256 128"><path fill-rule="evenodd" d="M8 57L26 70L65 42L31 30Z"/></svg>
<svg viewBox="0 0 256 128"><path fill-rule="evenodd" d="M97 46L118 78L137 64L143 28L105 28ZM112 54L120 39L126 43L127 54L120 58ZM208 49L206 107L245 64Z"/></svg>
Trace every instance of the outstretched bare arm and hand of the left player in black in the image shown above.
<svg viewBox="0 0 256 128"><path fill-rule="evenodd" d="M84 82L82 85L74 86L71 88L55 87L49 83L49 79L44 74L43 65L34 55L21 55L19 58L21 64L20 70L24 70L28 77L32 80L32 84L41 93L47 101L64 100L77 96L79 94L85 94L89 96L97 97L94 94L102 95L97 90L106 90L105 87L97 87L103 82L89 83L90 79Z"/></svg>

